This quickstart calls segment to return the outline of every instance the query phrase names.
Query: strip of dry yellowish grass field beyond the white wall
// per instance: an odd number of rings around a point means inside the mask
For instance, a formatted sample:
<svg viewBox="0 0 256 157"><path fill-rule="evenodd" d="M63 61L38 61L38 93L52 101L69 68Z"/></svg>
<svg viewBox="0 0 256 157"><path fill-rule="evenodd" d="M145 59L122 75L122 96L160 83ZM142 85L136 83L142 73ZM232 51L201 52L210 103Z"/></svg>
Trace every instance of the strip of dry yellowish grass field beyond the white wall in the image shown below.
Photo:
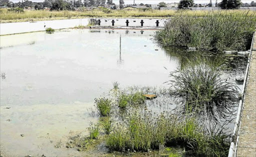
<svg viewBox="0 0 256 157"><path fill-rule="evenodd" d="M191 10L191 11L175 11L175 10L111 10L111 12L104 12L104 10L83 10L83 11L46 11L46 10L29 10L24 13L8 12L7 9L0 9L1 23L3 22L17 22L17 21L30 21L31 19L36 20L51 20L51 19L67 19L67 18L84 18L84 17L148 17L148 18L159 18L159 17L175 17L180 14L187 16L205 16L211 11L203 10ZM240 14L243 10L221 10L218 11L223 14ZM249 15L253 15L255 11L249 11Z"/></svg>

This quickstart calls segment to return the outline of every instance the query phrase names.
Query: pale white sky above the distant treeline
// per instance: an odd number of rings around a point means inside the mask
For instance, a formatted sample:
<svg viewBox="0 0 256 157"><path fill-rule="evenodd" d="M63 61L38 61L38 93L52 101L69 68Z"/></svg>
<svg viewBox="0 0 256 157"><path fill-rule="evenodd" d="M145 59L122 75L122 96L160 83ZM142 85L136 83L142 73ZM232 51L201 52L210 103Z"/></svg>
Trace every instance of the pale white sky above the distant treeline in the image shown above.
<svg viewBox="0 0 256 157"><path fill-rule="evenodd" d="M12 2L18 2L22 0L10 0ZM44 0L29 0L29 1L44 1ZM82 0L83 1L83 0ZM159 2L164 1L166 3L173 3L173 2L179 2L179 0L135 0L136 4L158 4ZM194 3L200 4L200 3L209 3L210 0L194 0ZM212 3L215 3L216 0L212 0ZM221 0L217 0L217 2L220 2ZM256 0L241 0L243 3L250 3L251 1L256 1ZM119 3L119 0L113 0L115 4ZM124 4L133 4L133 0L124 0Z"/></svg>

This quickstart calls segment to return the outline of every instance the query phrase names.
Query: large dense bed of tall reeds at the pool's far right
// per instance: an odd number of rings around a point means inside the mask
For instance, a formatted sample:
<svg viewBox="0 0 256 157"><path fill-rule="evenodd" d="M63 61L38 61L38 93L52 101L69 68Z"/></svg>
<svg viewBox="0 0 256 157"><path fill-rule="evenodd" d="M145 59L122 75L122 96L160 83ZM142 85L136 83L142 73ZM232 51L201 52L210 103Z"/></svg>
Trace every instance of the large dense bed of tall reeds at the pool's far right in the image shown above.
<svg viewBox="0 0 256 157"><path fill-rule="evenodd" d="M255 12L209 11L202 16L182 12L173 16L155 35L161 46L196 47L218 52L249 48L256 28Z"/></svg>

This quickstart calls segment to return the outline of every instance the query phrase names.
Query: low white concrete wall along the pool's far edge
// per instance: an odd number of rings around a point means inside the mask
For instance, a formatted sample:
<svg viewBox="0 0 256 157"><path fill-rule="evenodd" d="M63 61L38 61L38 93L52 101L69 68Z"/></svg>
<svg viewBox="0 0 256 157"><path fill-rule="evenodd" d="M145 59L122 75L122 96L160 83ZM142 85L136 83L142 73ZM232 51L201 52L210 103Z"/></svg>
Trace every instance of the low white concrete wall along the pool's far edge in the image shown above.
<svg viewBox="0 0 256 157"><path fill-rule="evenodd" d="M129 21L128 26L139 27L141 26L140 18L96 18L100 19L100 26L126 26L126 20ZM48 20L48 21L35 21L35 22L13 22L13 23L0 23L0 35L17 34L34 31L44 31L45 28L51 27L53 29L73 28L78 25L88 25L90 18L80 19L62 19L62 20ZM156 20L159 21L159 27L164 26L167 19L143 19L144 27L156 27ZM135 22L134 22L135 21ZM45 27L44 27L45 26Z"/></svg>

